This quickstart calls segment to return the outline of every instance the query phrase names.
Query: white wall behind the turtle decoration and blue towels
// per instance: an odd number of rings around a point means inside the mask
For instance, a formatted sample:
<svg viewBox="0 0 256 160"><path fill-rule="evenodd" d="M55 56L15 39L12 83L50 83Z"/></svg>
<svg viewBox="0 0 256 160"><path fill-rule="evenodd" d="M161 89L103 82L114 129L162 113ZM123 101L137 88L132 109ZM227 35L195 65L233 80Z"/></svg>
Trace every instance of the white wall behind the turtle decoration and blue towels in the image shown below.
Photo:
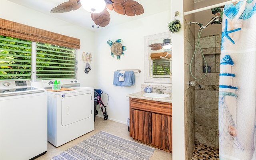
<svg viewBox="0 0 256 160"><path fill-rule="evenodd" d="M126 95L141 91L141 85L147 84L144 83L144 36L169 32L170 14L170 10L165 11L95 33L95 87L109 95L109 119L126 124L129 117L129 98ZM107 44L108 40L114 42L118 39L122 39L122 45L127 47L119 61L116 55L114 58L110 55L110 46ZM117 69L141 69L142 72L135 73L134 86L118 87L113 85L114 71Z"/></svg>

